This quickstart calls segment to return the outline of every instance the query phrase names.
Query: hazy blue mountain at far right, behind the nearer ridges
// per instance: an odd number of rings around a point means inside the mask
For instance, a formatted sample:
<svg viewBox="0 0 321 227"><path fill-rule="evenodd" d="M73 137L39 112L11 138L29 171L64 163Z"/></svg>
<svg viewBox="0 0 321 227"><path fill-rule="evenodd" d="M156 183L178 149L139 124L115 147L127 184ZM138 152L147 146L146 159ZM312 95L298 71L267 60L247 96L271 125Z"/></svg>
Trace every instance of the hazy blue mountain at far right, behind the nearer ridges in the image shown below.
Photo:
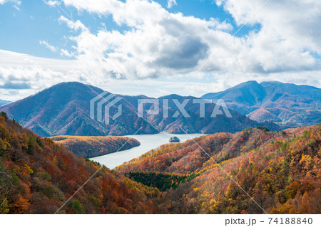
<svg viewBox="0 0 321 227"><path fill-rule="evenodd" d="M229 108L250 119L272 121L287 127L321 122L321 89L276 81L248 81L202 98L223 99Z"/></svg>

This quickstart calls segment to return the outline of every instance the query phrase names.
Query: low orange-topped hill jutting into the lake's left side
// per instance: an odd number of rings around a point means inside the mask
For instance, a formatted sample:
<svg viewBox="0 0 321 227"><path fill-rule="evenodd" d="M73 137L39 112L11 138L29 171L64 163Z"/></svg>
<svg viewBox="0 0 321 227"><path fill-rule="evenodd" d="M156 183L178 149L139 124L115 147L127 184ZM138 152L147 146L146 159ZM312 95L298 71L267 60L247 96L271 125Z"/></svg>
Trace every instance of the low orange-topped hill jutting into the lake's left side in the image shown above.
<svg viewBox="0 0 321 227"><path fill-rule="evenodd" d="M79 137L56 136L51 140L76 154L77 157L91 158L137 147L141 143L129 137Z"/></svg>

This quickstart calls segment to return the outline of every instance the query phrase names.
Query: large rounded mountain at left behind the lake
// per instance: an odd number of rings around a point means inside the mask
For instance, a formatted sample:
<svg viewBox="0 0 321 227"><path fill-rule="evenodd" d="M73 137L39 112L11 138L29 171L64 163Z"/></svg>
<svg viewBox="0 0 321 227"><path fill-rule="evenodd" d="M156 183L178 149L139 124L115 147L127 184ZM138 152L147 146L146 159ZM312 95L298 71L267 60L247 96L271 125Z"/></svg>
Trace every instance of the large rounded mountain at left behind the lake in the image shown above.
<svg viewBox="0 0 321 227"><path fill-rule="evenodd" d="M121 100L126 115L111 120L109 125L91 119L90 100L101 93L103 90L91 85L60 83L6 105L1 111L41 137L135 134L140 127L138 134L158 132L149 122L137 117L136 109L126 99ZM116 110L116 107L111 107L111 112Z"/></svg>

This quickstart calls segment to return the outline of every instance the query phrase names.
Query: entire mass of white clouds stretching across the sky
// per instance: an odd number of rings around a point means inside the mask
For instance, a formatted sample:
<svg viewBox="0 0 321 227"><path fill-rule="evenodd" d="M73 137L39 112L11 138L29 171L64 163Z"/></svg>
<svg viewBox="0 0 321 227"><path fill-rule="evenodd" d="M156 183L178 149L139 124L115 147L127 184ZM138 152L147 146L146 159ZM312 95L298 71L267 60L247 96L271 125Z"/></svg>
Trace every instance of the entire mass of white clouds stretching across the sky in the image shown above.
<svg viewBox="0 0 321 227"><path fill-rule="evenodd" d="M26 58L39 65L9 67L0 61L0 75L8 81L9 75L19 75L21 80L24 75L44 78L39 81L54 78L53 84L66 80L68 75L68 80L85 78L93 85L111 79L121 79L121 85L124 81L132 83L130 79L145 79L139 82L144 84L143 81L151 78L166 78L167 87L159 88L163 93L179 90L193 95L223 90L245 80L320 86L321 1L270 1L260 9L265 1L215 0L233 16L238 26L248 19L250 26L260 25L257 31L232 36L233 25L228 21L172 14L155 1L63 0L62 7L73 7L79 14L87 11L101 19L110 15L116 24L126 29L111 31L106 29L107 24L97 31L89 31L80 20L74 23L60 16L58 22L73 31L68 38L76 44L72 50L56 51L76 60L54 65L42 58L19 56L19 63ZM53 6L53 2L47 3ZM213 83L189 82L183 89L180 89L183 82L169 85L171 78L184 81L184 77L199 80L208 77ZM124 80L126 78L128 80ZM31 88L36 87L32 84Z"/></svg>

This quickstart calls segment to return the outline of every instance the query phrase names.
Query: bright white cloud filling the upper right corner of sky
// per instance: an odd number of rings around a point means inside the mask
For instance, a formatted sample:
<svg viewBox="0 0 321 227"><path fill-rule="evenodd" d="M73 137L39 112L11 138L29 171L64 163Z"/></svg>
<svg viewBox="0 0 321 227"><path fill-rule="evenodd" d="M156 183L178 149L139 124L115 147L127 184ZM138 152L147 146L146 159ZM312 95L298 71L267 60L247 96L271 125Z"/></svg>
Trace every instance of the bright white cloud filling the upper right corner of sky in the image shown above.
<svg viewBox="0 0 321 227"><path fill-rule="evenodd" d="M265 0L215 1L238 25L250 18L251 24L260 24L260 31L244 40L250 47L248 56L256 58L263 71L320 67L311 53L321 54L321 1L281 0L270 1L265 6Z"/></svg>

